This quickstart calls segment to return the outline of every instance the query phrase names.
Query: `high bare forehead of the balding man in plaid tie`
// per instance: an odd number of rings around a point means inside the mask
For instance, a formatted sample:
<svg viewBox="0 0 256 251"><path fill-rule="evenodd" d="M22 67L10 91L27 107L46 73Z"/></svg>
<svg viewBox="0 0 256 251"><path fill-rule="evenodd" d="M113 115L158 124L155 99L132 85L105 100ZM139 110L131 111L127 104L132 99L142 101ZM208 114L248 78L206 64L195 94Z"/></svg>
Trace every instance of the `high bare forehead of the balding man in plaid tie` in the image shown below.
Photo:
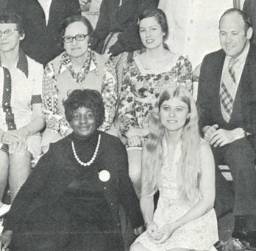
<svg viewBox="0 0 256 251"><path fill-rule="evenodd" d="M242 16L236 12L224 15L219 25L221 31L241 31L244 27L245 23Z"/></svg>

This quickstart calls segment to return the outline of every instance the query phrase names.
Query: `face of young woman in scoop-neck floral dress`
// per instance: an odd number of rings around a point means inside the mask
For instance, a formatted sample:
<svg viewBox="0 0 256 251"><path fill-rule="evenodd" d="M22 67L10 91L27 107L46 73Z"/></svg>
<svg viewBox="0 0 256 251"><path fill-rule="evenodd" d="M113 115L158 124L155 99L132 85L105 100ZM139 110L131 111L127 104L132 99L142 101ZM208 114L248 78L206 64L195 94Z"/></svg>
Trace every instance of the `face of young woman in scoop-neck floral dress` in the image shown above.
<svg viewBox="0 0 256 251"><path fill-rule="evenodd" d="M154 17L143 18L140 22L141 43L148 49L163 46L164 32Z"/></svg>

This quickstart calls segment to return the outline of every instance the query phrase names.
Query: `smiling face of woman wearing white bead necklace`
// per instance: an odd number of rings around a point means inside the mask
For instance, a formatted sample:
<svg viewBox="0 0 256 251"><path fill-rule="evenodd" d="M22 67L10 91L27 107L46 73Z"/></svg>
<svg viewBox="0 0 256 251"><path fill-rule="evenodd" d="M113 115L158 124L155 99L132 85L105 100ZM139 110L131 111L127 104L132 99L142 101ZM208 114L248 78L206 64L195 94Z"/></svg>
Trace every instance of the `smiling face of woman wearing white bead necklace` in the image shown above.
<svg viewBox="0 0 256 251"><path fill-rule="evenodd" d="M92 109L86 107L74 110L69 124L79 138L88 138L97 129L95 114Z"/></svg>

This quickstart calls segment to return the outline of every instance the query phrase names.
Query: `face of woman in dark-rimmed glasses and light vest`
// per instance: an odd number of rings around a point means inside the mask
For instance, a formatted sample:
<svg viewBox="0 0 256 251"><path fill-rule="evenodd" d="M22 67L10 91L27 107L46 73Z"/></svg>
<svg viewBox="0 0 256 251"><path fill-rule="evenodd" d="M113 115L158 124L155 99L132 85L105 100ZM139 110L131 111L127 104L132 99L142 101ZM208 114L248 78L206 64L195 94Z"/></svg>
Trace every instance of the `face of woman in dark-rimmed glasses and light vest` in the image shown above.
<svg viewBox="0 0 256 251"><path fill-rule="evenodd" d="M88 28L85 26L82 22L74 22L69 24L65 28L65 34L66 36L75 37L77 34L88 34ZM88 51L88 39L89 36L85 37L85 40L83 41L77 41L76 39L73 39L71 43L64 43L65 51L68 53L68 55L72 58L79 58L84 57L85 54Z"/></svg>

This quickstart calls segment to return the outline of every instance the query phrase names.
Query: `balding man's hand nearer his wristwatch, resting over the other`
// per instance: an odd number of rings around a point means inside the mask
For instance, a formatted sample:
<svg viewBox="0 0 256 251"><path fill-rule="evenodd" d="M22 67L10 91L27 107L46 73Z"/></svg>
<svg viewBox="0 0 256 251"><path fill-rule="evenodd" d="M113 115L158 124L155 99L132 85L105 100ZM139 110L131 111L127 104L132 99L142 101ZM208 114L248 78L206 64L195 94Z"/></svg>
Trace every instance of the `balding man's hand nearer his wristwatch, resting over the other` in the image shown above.
<svg viewBox="0 0 256 251"><path fill-rule="evenodd" d="M218 129L213 132L210 139L210 145L213 145L215 148L217 146L223 147L224 145L230 144L243 137L244 134L239 128L235 128L233 130Z"/></svg>

